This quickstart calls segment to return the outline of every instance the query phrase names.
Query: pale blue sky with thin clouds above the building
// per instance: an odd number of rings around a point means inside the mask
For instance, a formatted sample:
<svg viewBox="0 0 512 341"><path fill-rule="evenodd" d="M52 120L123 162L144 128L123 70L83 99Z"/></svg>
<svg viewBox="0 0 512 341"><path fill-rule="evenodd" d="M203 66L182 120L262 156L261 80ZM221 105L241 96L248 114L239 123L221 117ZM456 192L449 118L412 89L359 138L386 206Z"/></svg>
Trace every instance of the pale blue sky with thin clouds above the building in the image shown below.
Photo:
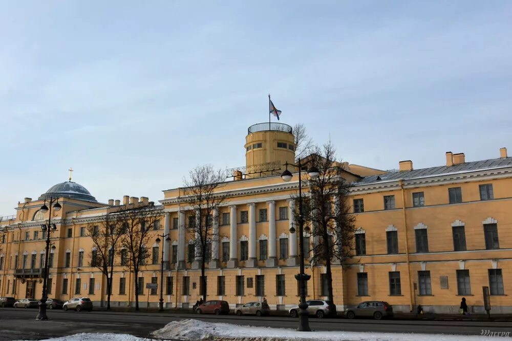
<svg viewBox="0 0 512 341"><path fill-rule="evenodd" d="M73 181L158 202L303 123L378 169L512 153L512 2L0 0L0 215ZM275 121L275 119L273 119Z"/></svg>

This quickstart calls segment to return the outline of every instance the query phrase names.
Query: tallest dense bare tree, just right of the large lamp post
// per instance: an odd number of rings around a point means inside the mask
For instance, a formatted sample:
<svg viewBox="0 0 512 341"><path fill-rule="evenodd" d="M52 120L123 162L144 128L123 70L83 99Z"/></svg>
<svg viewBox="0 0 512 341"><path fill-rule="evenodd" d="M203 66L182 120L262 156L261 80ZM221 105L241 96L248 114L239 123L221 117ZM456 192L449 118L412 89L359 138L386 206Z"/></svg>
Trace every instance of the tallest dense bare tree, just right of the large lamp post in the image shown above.
<svg viewBox="0 0 512 341"><path fill-rule="evenodd" d="M334 146L329 142L315 147L308 157L309 166L316 167L319 176L309 180L309 197L304 204L304 220L310 224L313 238L312 263L326 265L327 297L333 302L332 260L345 264L353 255L355 217L350 213L350 184L336 162ZM335 310L334 310L335 311Z"/></svg>

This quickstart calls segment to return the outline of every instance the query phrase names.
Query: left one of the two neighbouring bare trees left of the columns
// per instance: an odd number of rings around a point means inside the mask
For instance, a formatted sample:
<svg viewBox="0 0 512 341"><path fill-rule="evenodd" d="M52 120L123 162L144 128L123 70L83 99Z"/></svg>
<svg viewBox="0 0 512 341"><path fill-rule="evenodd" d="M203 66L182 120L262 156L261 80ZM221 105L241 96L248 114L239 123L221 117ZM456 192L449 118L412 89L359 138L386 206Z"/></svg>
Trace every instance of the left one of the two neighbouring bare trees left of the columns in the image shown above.
<svg viewBox="0 0 512 341"><path fill-rule="evenodd" d="M123 236L119 216L110 213L102 217L101 221L88 224L87 234L94 243L89 265L97 267L106 278L106 310L110 310L115 255L119 251L118 248Z"/></svg>

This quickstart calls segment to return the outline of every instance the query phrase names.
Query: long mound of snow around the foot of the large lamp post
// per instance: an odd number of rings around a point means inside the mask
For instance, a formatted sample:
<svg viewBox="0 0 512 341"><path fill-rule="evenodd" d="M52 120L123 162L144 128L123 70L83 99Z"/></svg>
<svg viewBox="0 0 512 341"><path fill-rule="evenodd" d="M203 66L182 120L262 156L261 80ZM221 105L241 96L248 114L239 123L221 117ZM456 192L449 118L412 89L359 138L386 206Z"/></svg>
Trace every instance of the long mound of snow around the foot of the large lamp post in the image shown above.
<svg viewBox="0 0 512 341"><path fill-rule="evenodd" d="M209 323L198 320L174 321L152 333L161 339L231 340L231 341L482 341L482 336L449 334L408 334L381 332L315 331L298 332L294 329L252 327L228 323ZM490 338L489 338L490 340Z"/></svg>

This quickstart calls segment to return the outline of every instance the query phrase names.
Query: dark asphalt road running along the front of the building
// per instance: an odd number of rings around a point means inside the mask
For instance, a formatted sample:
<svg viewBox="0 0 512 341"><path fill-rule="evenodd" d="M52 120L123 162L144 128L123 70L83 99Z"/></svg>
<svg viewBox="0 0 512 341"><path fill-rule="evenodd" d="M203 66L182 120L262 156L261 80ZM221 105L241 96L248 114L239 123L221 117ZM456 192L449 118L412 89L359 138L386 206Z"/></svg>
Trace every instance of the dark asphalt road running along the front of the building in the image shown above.
<svg viewBox="0 0 512 341"><path fill-rule="evenodd" d="M35 321L37 309L0 308L0 340L44 339L76 333L112 332L150 337L150 332L171 321L198 319L275 328L296 328L297 319L281 316L197 315L153 312L75 312L49 310L50 321ZM480 335L482 329L510 332L512 322L486 321L397 321L310 319L313 330L443 333ZM412 337L413 339L413 337Z"/></svg>

